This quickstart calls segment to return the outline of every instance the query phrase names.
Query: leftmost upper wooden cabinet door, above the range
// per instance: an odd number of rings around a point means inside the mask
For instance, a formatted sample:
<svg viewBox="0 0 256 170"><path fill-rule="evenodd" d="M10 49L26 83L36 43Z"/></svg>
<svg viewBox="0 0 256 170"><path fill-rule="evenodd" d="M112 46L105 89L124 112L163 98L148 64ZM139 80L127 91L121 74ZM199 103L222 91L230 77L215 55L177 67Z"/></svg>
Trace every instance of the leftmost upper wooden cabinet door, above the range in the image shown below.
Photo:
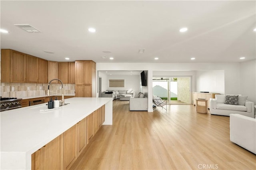
<svg viewBox="0 0 256 170"><path fill-rule="evenodd" d="M11 83L26 83L26 54L11 50Z"/></svg>

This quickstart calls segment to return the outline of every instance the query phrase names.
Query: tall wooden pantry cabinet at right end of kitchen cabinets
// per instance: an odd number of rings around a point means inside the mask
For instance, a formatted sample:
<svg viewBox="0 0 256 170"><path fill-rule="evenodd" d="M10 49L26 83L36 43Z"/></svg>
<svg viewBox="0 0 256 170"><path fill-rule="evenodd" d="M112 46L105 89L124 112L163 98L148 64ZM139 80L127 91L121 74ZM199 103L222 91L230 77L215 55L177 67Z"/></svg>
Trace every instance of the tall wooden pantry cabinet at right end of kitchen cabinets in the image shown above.
<svg viewBox="0 0 256 170"><path fill-rule="evenodd" d="M75 62L76 97L96 97L96 63L92 60Z"/></svg>

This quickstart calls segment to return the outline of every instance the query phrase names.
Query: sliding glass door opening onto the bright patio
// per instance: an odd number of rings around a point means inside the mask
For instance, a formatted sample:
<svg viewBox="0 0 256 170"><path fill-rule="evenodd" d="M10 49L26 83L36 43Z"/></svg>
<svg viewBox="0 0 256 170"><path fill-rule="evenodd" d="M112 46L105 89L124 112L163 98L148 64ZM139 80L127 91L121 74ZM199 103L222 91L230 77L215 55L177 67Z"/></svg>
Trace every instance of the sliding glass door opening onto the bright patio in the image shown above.
<svg viewBox="0 0 256 170"><path fill-rule="evenodd" d="M168 104L191 104L191 77L153 77L153 95Z"/></svg>

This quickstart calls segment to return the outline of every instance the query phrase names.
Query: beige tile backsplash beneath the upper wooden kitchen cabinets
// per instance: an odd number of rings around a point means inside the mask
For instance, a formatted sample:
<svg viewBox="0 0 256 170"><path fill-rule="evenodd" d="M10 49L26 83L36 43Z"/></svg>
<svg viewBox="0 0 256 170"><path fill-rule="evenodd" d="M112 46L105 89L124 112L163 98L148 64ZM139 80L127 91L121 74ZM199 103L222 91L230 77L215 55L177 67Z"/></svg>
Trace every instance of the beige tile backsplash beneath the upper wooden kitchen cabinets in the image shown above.
<svg viewBox="0 0 256 170"><path fill-rule="evenodd" d="M0 83L0 96L2 97L39 97L46 96L47 83ZM61 84L50 84L50 91L61 94ZM75 95L75 84L63 84L64 95ZM57 95L50 92L50 95Z"/></svg>

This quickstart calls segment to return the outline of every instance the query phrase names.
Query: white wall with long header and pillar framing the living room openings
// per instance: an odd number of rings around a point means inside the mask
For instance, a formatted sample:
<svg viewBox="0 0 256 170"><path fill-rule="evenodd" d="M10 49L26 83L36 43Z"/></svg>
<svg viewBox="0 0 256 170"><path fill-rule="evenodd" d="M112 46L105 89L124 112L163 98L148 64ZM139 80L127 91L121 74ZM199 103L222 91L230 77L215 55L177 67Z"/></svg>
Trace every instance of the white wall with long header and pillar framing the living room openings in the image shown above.
<svg viewBox="0 0 256 170"><path fill-rule="evenodd" d="M244 63L244 67L246 65L247 63ZM147 70L148 80L153 78L153 71L224 70L224 93L236 94L240 91L240 63L97 63L96 70ZM255 79L256 77L254 76L251 81L255 81ZM149 83L147 88L148 111L153 111L151 107L152 83ZM249 93L248 99L254 98L255 93L250 93L250 90L247 90L247 93Z"/></svg>

